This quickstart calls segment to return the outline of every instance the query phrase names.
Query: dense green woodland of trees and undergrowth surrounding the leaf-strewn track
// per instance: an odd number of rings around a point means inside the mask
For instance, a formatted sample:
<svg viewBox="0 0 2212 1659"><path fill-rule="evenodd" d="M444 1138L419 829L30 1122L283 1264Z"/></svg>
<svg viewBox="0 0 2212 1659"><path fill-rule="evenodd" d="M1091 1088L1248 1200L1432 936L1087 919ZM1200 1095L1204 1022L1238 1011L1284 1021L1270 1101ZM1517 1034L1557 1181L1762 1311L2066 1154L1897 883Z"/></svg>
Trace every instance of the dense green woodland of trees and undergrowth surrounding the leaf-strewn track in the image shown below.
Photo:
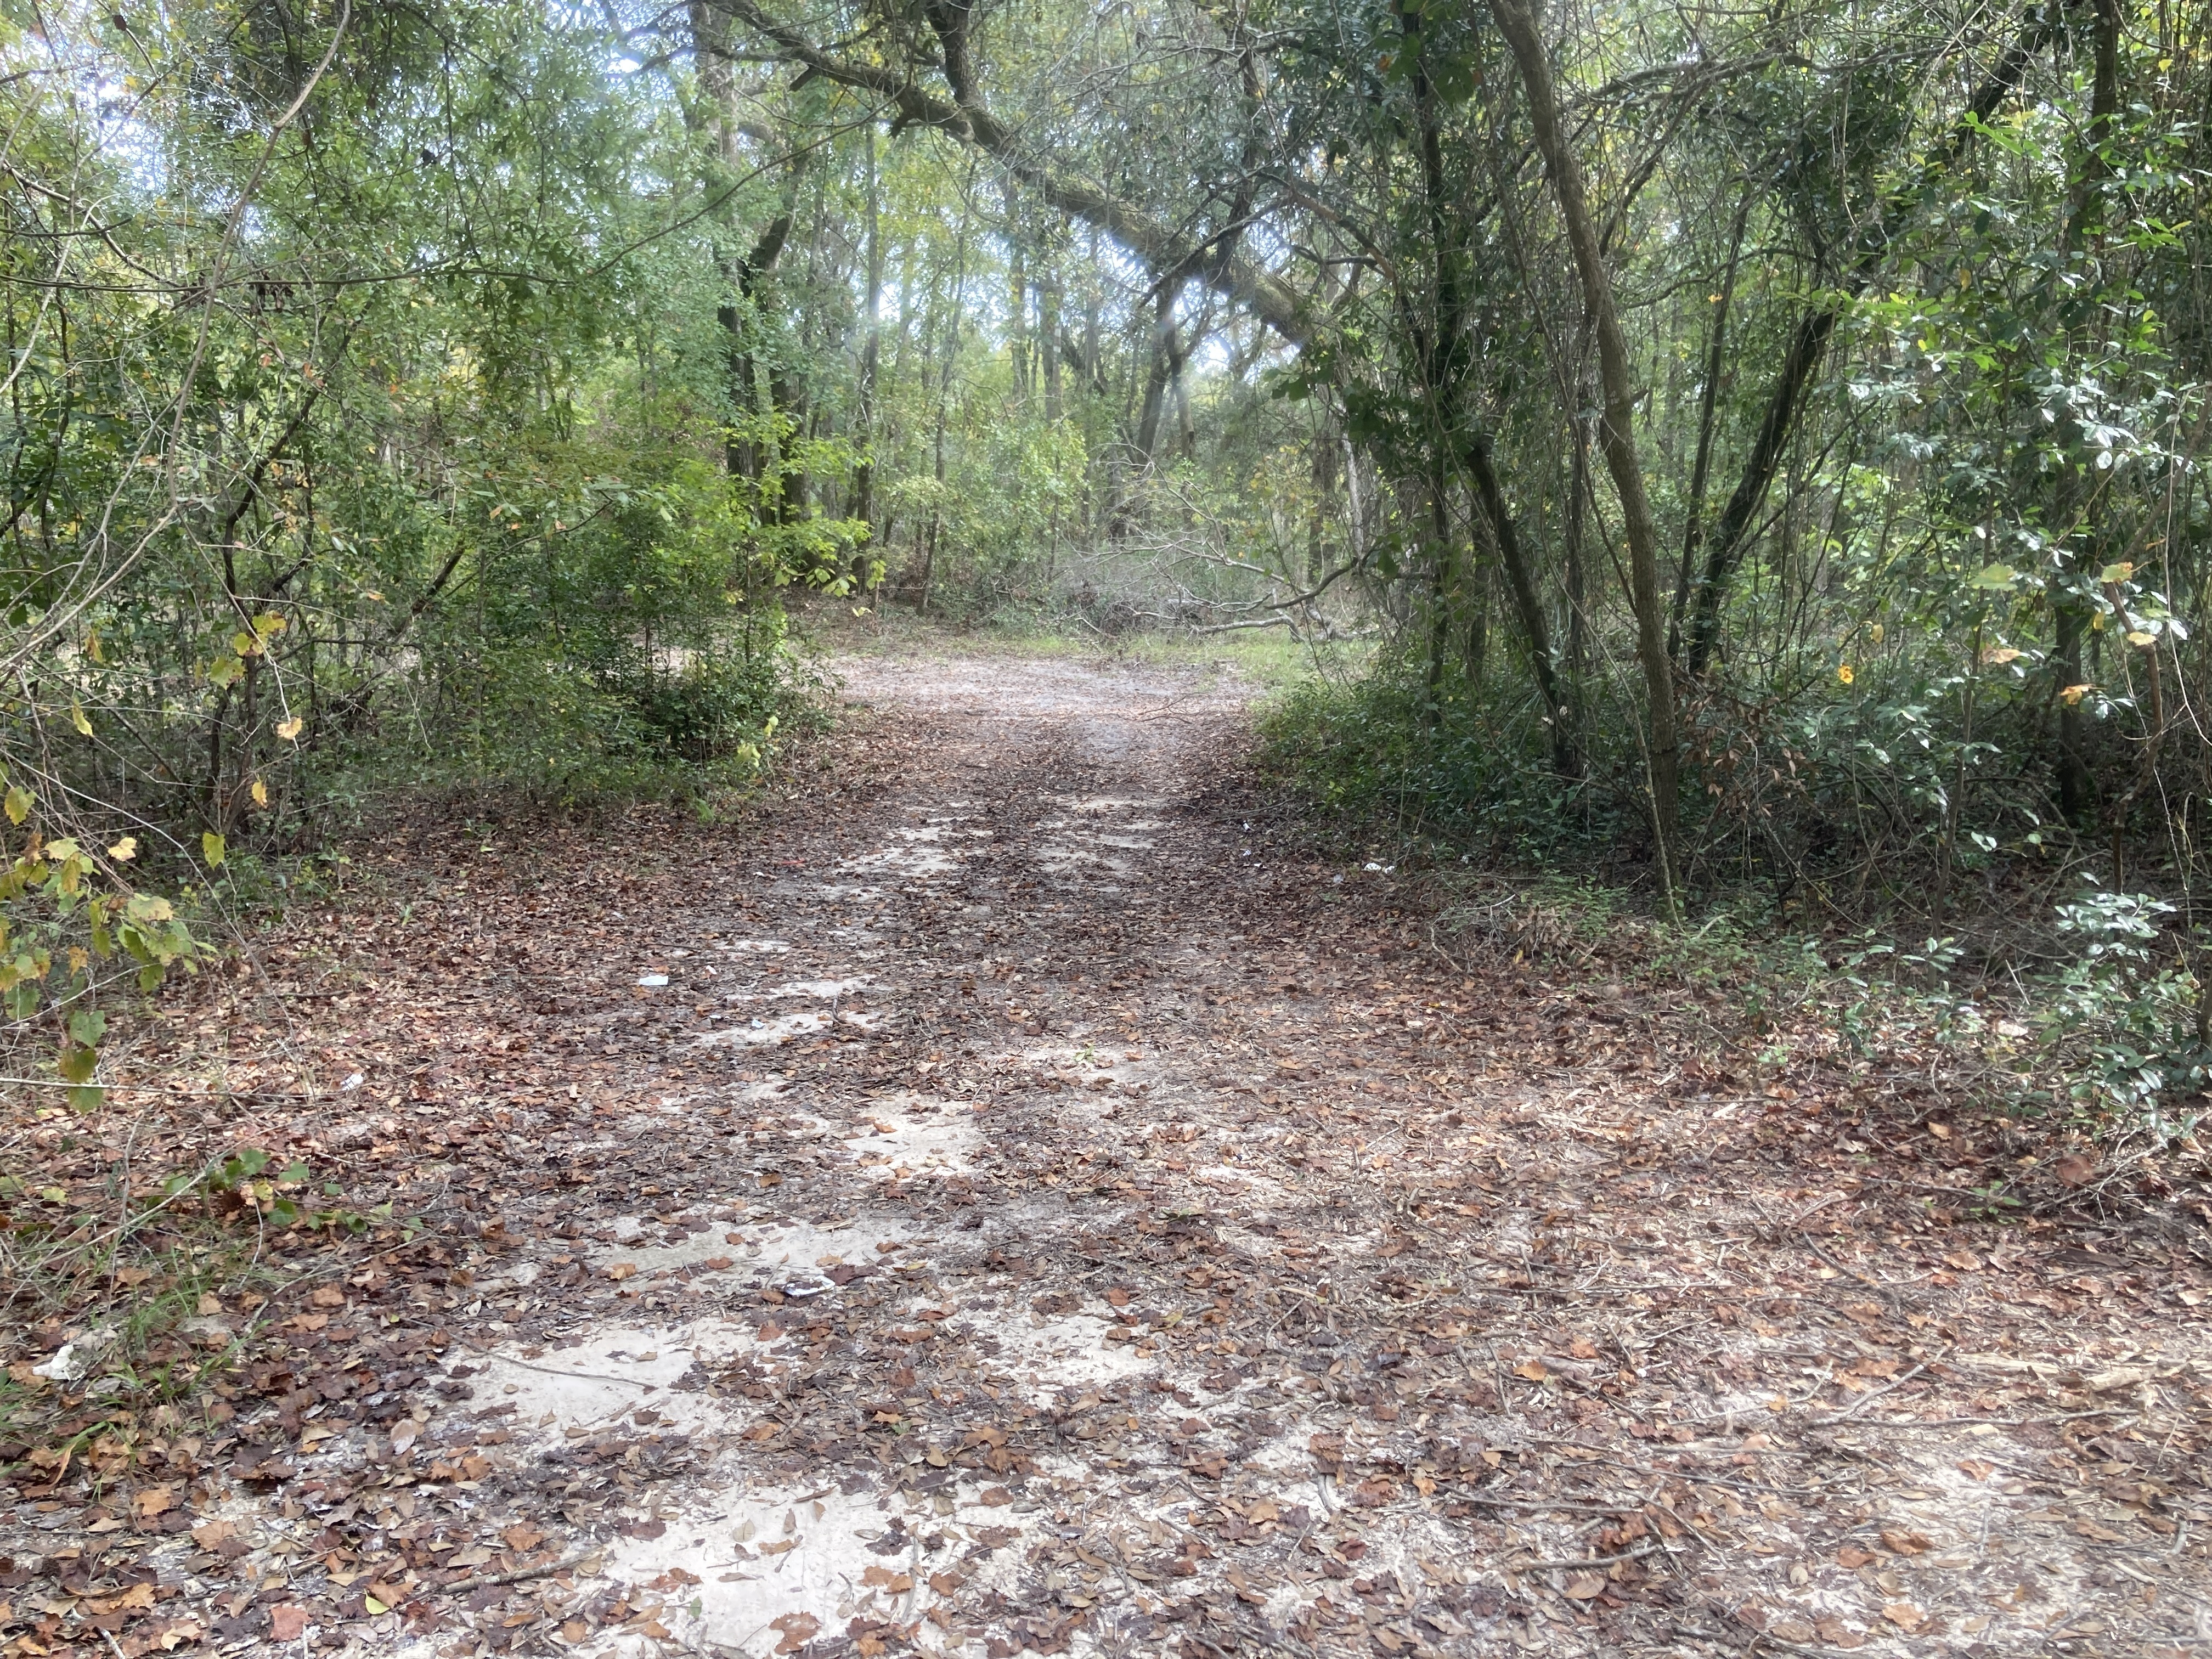
<svg viewBox="0 0 2212 1659"><path fill-rule="evenodd" d="M2194 984L2199 11L7 15L20 1018L164 852L754 765L790 584L1352 635L1327 799Z"/></svg>

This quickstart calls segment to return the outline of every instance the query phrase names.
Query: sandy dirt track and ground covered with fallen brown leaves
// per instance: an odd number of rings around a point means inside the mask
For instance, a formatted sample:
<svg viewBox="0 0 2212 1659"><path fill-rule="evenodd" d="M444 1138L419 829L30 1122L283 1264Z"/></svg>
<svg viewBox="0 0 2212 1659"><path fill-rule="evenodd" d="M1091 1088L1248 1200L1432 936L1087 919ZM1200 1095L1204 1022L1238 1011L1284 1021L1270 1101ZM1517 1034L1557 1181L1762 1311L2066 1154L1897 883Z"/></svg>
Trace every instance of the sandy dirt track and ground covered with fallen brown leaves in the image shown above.
<svg viewBox="0 0 2212 1659"><path fill-rule="evenodd" d="M750 821L420 825L139 1037L139 1168L427 1230L217 1194L181 1405L15 1332L0 1652L2212 1641L2190 1217L1980 1221L2037 1150L1927 1079L1453 967L1230 679L841 670Z"/></svg>

